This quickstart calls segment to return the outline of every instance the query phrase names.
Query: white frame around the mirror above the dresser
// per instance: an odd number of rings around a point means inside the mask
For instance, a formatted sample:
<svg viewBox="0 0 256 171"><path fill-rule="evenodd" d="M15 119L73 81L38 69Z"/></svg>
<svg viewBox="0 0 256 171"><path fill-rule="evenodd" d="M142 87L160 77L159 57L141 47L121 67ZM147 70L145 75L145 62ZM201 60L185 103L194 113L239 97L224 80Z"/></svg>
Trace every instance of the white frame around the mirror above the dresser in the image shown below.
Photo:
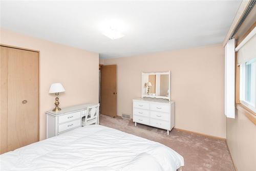
<svg viewBox="0 0 256 171"><path fill-rule="evenodd" d="M143 97L150 97L150 98L158 98L158 99L167 99L170 101L170 92L168 96L152 96L152 95L145 95L143 94L144 82L143 82L143 75L156 75L156 74L168 74L169 75L169 90L170 90L170 71L167 72L141 72L141 98Z"/></svg>

